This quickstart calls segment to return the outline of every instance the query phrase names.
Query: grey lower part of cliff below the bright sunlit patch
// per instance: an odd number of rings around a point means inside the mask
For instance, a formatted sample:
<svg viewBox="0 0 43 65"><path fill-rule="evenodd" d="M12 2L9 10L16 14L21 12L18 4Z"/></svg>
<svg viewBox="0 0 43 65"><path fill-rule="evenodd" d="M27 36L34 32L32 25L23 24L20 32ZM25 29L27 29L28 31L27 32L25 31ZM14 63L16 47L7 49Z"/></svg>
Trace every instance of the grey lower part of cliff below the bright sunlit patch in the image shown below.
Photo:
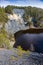
<svg viewBox="0 0 43 65"><path fill-rule="evenodd" d="M20 19L19 19L20 20ZM14 34L15 32L25 29L25 25L24 22L20 21L16 21L16 20L9 20L6 24L5 24L5 30L7 31L7 33L11 33Z"/></svg>

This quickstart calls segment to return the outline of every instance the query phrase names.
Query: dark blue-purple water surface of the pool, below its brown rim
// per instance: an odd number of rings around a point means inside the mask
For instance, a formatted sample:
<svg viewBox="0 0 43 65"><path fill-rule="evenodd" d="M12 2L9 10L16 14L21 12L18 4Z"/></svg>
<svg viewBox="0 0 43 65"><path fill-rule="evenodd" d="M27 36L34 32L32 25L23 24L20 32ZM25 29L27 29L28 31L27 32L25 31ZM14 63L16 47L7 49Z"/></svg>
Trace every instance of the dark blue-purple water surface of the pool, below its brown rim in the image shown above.
<svg viewBox="0 0 43 65"><path fill-rule="evenodd" d="M16 39L14 47L21 45L25 50L30 49L31 44L36 52L43 53L43 33L40 34L23 34ZM30 49L31 50L31 49Z"/></svg>

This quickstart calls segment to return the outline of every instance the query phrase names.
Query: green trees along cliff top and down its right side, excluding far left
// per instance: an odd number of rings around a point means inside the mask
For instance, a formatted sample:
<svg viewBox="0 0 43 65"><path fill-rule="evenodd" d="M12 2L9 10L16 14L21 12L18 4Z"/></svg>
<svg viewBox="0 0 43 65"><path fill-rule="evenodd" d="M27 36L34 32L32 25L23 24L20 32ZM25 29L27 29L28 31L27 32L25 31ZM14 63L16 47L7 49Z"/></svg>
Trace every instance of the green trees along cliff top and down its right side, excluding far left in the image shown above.
<svg viewBox="0 0 43 65"><path fill-rule="evenodd" d="M5 12L9 13L9 14L13 14L12 10L16 8L16 9L24 9L24 15L23 15L23 19L24 21L26 21L29 25L31 24L31 22L29 21L29 16L32 17L34 19L33 25L34 26L40 26L39 23L39 18L43 17L43 9L41 8L36 8L36 7L19 7L19 6L10 6L8 5L7 7L5 7Z"/></svg>

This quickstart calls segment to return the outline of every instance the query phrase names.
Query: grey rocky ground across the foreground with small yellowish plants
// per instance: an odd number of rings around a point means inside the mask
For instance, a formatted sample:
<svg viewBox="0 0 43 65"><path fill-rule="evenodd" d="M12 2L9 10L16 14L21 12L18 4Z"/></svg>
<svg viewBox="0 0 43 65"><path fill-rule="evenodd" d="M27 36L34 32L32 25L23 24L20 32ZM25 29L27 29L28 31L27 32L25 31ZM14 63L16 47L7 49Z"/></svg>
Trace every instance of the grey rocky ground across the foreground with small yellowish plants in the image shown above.
<svg viewBox="0 0 43 65"><path fill-rule="evenodd" d="M18 54L17 49L0 49L0 65L43 65L43 54Z"/></svg>

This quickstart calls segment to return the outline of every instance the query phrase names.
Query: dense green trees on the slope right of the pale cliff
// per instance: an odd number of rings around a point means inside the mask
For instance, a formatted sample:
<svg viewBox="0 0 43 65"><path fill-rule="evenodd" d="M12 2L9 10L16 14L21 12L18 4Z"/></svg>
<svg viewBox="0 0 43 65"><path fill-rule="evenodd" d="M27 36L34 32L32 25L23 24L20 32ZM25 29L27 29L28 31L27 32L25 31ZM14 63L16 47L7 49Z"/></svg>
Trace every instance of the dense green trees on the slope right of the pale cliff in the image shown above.
<svg viewBox="0 0 43 65"><path fill-rule="evenodd" d="M40 26L41 21L39 22L39 20L40 17L43 18L43 9L29 6L29 7L25 7L24 10L25 10L25 13L23 15L24 20L29 23L29 16L30 16L34 19L33 24L35 26Z"/></svg>

